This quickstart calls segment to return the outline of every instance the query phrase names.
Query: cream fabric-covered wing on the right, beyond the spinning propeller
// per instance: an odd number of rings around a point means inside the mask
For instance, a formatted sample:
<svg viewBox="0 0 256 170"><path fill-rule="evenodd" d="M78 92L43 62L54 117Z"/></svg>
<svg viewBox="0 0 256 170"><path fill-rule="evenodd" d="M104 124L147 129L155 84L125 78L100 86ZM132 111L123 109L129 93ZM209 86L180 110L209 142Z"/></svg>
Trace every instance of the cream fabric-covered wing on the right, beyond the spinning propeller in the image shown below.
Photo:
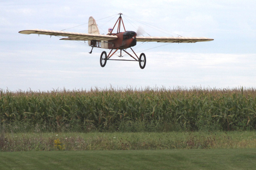
<svg viewBox="0 0 256 170"><path fill-rule="evenodd" d="M136 37L139 42L158 42L158 43L196 43L204 41L212 41L206 37Z"/></svg>

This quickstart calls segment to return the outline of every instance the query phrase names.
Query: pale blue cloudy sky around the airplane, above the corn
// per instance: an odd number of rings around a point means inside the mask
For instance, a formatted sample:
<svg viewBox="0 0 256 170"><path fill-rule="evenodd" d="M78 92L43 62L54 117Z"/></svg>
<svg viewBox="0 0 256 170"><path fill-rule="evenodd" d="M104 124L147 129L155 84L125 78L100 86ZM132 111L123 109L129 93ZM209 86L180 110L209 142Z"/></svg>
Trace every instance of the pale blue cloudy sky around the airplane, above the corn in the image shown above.
<svg viewBox="0 0 256 170"><path fill-rule="evenodd" d="M1 90L256 88L255 0L0 0L0 8ZM102 68L100 54L108 49L94 48L89 54L91 47L84 41L18 33L87 33L93 16L100 33L106 34L119 13L126 30L141 29L143 36L214 40L137 42L133 50L145 53L144 69L139 62L125 61L107 61Z"/></svg>

